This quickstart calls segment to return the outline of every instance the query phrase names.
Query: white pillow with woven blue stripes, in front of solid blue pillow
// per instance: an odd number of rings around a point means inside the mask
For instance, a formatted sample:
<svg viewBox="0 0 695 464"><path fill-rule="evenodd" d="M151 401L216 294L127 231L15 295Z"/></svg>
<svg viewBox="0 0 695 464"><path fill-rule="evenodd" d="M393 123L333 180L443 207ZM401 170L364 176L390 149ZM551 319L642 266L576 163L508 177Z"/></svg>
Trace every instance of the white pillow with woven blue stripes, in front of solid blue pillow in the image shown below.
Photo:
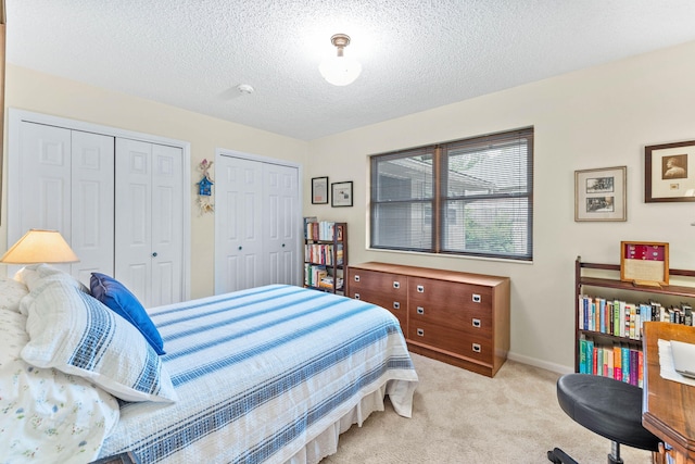
<svg viewBox="0 0 695 464"><path fill-rule="evenodd" d="M176 401L169 375L140 331L70 279L52 274L29 284L22 359L90 379L126 401Z"/></svg>

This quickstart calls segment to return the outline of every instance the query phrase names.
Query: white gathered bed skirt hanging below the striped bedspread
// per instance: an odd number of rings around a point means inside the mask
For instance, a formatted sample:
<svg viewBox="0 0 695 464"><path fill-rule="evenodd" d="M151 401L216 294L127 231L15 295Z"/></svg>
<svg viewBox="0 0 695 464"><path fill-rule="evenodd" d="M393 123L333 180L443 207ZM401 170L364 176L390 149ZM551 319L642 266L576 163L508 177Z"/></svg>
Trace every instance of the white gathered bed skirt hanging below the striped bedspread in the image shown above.
<svg viewBox="0 0 695 464"><path fill-rule="evenodd" d="M390 394L393 409L402 416L410 417L415 384L404 380L389 380L376 391L362 398L352 410L329 425L323 432L294 454L286 464L316 464L324 457L338 452L338 436L348 431L353 424L362 424L375 411L383 411L383 399Z"/></svg>

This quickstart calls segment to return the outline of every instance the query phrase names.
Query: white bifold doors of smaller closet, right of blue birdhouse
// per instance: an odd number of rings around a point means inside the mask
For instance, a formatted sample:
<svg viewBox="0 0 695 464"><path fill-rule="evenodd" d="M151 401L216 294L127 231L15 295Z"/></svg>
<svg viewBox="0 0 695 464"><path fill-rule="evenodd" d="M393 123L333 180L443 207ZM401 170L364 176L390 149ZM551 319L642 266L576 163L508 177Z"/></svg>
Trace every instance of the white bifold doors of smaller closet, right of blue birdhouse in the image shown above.
<svg viewBox="0 0 695 464"><path fill-rule="evenodd" d="M300 285L299 168L232 155L215 164L215 293Z"/></svg>

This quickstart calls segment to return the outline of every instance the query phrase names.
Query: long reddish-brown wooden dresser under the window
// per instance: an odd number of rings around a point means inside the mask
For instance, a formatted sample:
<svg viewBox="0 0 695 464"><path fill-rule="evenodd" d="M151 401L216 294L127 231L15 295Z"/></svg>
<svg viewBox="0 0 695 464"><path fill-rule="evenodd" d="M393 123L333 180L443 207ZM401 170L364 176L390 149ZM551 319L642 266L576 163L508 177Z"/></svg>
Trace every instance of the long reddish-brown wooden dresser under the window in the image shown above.
<svg viewBox="0 0 695 464"><path fill-rule="evenodd" d="M390 310L410 351L493 377L509 351L509 278L386 263L348 269L349 296Z"/></svg>

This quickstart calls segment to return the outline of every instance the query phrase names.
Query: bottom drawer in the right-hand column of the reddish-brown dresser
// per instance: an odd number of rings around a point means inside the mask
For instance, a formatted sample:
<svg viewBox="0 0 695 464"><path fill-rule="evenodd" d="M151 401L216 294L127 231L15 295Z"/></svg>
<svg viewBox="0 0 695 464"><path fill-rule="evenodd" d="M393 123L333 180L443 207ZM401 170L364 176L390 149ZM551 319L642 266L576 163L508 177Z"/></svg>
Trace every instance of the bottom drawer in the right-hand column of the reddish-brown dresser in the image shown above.
<svg viewBox="0 0 695 464"><path fill-rule="evenodd" d="M465 335L453 327L410 319L407 338L414 342L460 354L482 363L492 363L493 348L490 337Z"/></svg>

